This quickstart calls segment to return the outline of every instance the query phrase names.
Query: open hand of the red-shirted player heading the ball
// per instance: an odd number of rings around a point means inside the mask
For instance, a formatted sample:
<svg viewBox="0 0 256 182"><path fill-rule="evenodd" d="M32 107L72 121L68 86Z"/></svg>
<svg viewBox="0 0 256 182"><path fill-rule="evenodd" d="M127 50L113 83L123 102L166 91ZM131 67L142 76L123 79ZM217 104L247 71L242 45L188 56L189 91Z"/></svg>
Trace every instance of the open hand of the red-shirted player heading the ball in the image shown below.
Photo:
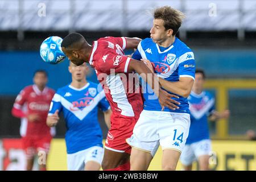
<svg viewBox="0 0 256 182"><path fill-rule="evenodd" d="M168 107L171 110L179 109L180 105L179 102L173 100L172 98L179 98L178 96L175 96L174 94L170 94L163 89L159 89L159 96L158 101L162 107L162 111L164 110L164 107Z"/></svg>

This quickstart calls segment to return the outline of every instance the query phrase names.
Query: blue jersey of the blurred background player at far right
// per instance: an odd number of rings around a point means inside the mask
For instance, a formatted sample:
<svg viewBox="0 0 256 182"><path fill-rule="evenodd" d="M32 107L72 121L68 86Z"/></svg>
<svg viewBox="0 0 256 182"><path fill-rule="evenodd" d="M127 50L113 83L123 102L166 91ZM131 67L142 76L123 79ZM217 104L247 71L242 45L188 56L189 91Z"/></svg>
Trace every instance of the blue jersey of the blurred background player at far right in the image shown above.
<svg viewBox="0 0 256 182"><path fill-rule="evenodd" d="M188 100L191 124L186 144L209 139L208 116L215 110L214 97L209 92L196 94L192 91Z"/></svg>

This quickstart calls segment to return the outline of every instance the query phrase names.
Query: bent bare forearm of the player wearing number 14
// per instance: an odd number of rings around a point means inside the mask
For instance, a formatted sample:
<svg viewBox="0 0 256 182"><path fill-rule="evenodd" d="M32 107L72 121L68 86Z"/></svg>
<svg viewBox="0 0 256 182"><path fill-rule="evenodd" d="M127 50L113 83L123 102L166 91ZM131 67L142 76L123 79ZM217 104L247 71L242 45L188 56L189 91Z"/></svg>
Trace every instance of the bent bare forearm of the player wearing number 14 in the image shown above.
<svg viewBox="0 0 256 182"><path fill-rule="evenodd" d="M180 77L179 81L172 82L159 78L159 82L160 85L169 92L178 94L182 97L188 97L191 93L194 80L191 77Z"/></svg>

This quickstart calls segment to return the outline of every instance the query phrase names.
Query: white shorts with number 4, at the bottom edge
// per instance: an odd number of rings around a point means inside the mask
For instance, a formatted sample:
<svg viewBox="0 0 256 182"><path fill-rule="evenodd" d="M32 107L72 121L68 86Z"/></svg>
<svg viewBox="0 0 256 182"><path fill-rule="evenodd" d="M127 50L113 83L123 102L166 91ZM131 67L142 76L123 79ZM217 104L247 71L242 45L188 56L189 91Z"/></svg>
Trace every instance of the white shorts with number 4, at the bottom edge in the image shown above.
<svg viewBox="0 0 256 182"><path fill-rule="evenodd" d="M104 149L99 146L93 146L86 150L68 154L68 171L84 171L87 162L94 161L101 164L104 155Z"/></svg>

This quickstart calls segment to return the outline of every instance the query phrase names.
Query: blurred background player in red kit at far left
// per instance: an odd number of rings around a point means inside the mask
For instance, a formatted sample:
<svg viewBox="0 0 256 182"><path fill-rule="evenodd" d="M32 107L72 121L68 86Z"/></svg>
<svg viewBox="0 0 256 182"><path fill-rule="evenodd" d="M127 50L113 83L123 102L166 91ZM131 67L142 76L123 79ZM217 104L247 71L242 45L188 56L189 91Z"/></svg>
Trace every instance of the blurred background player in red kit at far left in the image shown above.
<svg viewBox="0 0 256 182"><path fill-rule="evenodd" d="M55 129L46 125L46 118L54 90L48 88L47 73L38 70L34 74L34 85L26 86L16 97L11 113L21 118L20 135L27 158L27 170L33 168L34 156L38 155L39 170L46 170L46 158Z"/></svg>

